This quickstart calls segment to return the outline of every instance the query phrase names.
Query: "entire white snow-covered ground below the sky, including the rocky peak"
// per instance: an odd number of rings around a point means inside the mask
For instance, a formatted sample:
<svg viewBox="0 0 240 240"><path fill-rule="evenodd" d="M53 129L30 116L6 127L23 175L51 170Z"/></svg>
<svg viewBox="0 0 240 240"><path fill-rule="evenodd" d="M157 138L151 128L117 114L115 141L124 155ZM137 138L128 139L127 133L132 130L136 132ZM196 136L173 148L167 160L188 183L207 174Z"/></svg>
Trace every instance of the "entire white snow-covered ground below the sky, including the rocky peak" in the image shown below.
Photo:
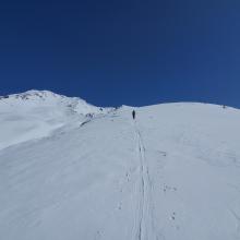
<svg viewBox="0 0 240 240"><path fill-rule="evenodd" d="M163 104L134 121L28 95L0 99L1 240L240 239L240 110Z"/></svg>

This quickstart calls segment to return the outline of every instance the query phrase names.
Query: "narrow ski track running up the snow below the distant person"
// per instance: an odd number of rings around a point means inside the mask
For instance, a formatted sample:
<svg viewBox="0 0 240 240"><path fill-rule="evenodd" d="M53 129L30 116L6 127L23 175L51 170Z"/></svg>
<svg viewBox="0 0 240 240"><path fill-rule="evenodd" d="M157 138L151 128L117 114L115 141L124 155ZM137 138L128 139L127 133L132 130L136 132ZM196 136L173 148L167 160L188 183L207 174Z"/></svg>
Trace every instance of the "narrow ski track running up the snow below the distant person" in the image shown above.
<svg viewBox="0 0 240 240"><path fill-rule="evenodd" d="M134 124L137 152L140 159L140 201L139 201L139 227L136 229L136 240L159 240L155 230L153 184L149 178L149 170L145 157L145 146L142 135L136 124Z"/></svg>

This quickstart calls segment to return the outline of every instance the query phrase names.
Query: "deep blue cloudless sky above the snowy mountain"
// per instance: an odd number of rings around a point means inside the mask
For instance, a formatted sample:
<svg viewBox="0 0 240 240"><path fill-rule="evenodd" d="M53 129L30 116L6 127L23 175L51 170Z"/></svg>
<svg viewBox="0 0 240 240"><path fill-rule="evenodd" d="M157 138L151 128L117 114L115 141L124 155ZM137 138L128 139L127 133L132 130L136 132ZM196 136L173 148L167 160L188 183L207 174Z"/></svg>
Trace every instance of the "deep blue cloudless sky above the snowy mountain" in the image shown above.
<svg viewBox="0 0 240 240"><path fill-rule="evenodd" d="M0 95L32 88L240 108L240 1L0 1Z"/></svg>

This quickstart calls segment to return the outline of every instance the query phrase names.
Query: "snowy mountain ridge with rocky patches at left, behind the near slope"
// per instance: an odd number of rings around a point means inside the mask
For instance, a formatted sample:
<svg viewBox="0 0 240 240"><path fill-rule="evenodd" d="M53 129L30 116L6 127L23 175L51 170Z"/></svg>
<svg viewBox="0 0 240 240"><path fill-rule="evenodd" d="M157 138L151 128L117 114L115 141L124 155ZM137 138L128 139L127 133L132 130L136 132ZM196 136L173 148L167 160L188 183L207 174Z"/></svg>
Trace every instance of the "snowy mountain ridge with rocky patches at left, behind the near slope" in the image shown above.
<svg viewBox="0 0 240 240"><path fill-rule="evenodd" d="M80 124L89 115L109 110L49 91L28 91L0 97L0 149L48 136L59 128Z"/></svg>

